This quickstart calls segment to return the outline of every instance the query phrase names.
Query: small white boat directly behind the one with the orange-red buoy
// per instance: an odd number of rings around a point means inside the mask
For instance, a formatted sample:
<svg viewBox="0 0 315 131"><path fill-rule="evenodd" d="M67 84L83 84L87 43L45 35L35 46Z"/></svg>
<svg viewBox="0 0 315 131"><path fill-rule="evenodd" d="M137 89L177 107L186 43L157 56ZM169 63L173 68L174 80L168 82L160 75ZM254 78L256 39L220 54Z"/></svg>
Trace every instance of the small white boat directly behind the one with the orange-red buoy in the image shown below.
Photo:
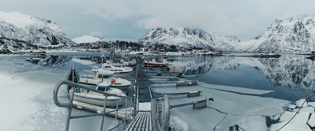
<svg viewBox="0 0 315 131"><path fill-rule="evenodd" d="M124 65L121 65L120 67L115 67L108 63L103 63L102 69L113 71L114 72L113 76L119 76L119 77L130 76L131 72L133 71L132 68L126 67Z"/></svg>

